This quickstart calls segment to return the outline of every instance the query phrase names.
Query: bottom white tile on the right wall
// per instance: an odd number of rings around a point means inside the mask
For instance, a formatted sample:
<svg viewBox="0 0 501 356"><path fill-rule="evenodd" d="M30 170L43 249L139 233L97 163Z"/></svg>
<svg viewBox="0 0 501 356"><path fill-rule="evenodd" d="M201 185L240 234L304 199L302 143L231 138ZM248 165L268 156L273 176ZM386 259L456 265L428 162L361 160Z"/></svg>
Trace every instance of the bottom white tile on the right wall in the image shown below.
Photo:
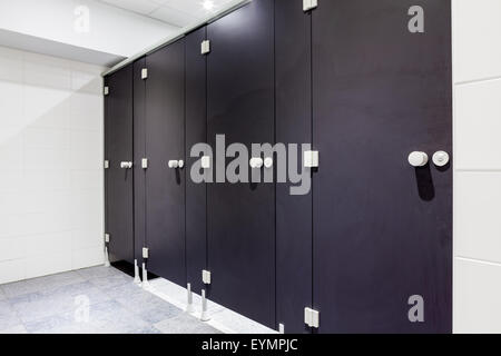
<svg viewBox="0 0 501 356"><path fill-rule="evenodd" d="M501 266L455 259L454 333L501 333Z"/></svg>

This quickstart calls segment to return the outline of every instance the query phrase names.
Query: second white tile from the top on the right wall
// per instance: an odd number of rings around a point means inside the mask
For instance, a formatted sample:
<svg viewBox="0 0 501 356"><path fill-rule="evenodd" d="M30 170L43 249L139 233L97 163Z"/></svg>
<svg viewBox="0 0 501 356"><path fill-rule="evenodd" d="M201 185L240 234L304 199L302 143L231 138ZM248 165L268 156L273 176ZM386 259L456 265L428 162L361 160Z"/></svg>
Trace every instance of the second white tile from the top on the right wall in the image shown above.
<svg viewBox="0 0 501 356"><path fill-rule="evenodd" d="M501 169L501 80L455 87L456 169Z"/></svg>

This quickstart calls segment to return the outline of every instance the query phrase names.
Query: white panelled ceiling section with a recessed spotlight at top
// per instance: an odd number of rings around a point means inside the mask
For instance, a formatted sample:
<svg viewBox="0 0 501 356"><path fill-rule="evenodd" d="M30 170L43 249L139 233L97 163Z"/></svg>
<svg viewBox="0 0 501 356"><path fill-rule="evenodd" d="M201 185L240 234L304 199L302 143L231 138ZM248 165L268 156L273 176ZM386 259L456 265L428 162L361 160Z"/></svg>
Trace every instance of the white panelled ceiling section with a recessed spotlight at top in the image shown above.
<svg viewBox="0 0 501 356"><path fill-rule="evenodd" d="M107 4L132 11L177 27L185 27L220 10L232 0L99 0ZM204 3L209 1L213 9Z"/></svg>

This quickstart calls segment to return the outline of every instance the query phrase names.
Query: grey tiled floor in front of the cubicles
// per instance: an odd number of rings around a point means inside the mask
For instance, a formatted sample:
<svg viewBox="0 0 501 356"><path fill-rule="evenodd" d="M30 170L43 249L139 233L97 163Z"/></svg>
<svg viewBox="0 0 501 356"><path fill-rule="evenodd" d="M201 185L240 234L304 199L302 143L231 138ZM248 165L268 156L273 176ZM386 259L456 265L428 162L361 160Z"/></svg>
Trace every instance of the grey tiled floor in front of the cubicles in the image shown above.
<svg viewBox="0 0 501 356"><path fill-rule="evenodd" d="M217 330L143 290L121 271L94 267L1 285L0 334L3 333L214 334Z"/></svg>

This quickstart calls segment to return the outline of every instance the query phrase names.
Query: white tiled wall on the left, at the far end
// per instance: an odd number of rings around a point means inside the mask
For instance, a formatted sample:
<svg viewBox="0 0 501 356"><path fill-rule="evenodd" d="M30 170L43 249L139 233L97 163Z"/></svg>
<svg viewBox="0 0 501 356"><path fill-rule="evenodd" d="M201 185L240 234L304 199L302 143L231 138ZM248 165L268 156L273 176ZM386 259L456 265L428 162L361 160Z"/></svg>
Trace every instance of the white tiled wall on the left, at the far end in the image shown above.
<svg viewBox="0 0 501 356"><path fill-rule="evenodd" d="M0 47L0 284L102 264L102 71Z"/></svg>

